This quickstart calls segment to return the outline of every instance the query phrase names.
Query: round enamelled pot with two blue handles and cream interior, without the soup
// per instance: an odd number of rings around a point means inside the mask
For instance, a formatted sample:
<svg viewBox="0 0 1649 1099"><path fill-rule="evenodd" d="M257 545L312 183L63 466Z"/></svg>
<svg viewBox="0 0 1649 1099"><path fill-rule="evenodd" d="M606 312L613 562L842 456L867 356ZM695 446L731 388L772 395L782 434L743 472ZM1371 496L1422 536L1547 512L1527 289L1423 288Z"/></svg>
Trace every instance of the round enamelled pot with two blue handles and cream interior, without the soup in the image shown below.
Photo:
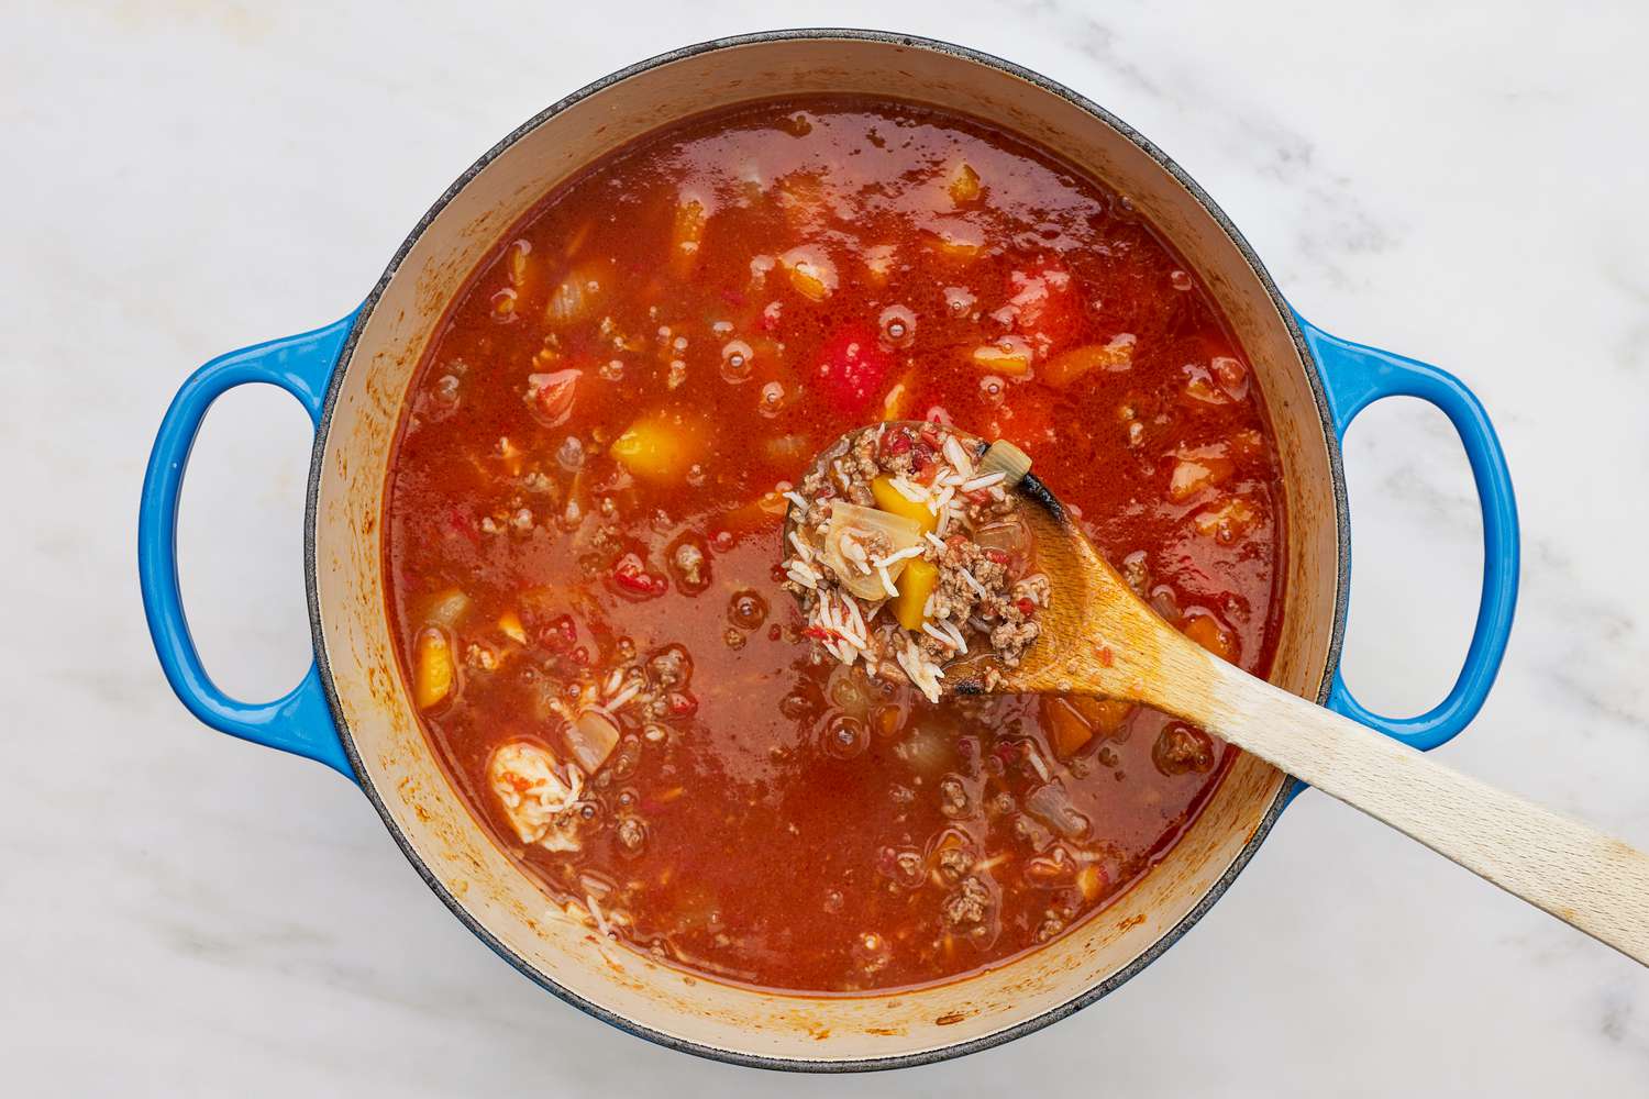
<svg viewBox="0 0 1649 1099"><path fill-rule="evenodd" d="M1416 748L1478 712L1517 592L1517 519L1482 407L1431 366L1336 339L1278 295L1225 214L1156 147L1067 87L1006 61L900 35L815 30L689 46L615 72L529 120L453 183L366 302L317 331L246 348L185 382L143 484L143 603L167 679L213 728L327 763L359 783L429 886L505 961L582 1010L661 1045L790 1069L917 1064L1037 1030L1098 1000L1174 944L1265 840L1298 784L1242 756L1196 824L1135 888L1012 964L882 995L763 992L658 964L599 938L488 839L425 743L384 611L379 516L401 405L447 303L546 191L625 142L740 101L866 92L942 104L1037 142L1130 196L1235 326L1276 433L1288 494L1286 600L1271 679ZM280 386L315 422L305 568L315 666L269 704L223 694L201 666L178 593L175 521L208 405L244 382ZM1435 710L1392 720L1336 672L1349 583L1341 435L1380 397L1412 395L1459 432L1482 506L1484 580L1459 680Z"/></svg>

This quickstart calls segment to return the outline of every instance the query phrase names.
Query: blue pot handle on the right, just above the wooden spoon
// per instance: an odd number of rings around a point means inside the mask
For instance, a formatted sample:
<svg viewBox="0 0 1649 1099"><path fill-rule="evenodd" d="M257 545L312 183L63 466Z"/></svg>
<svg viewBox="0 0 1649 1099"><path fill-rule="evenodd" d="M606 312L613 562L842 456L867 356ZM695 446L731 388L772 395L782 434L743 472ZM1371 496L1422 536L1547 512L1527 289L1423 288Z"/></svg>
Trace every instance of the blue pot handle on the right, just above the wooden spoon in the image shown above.
<svg viewBox="0 0 1649 1099"><path fill-rule="evenodd" d="M1506 453L1494 435L1482 404L1459 379L1435 366L1407 359L1390 351L1365 348L1314 328L1298 313L1299 330L1316 356L1327 389L1334 433L1346 437L1352 419L1382 397L1420 397L1443 412L1459 432L1478 483L1482 507L1482 596L1478 601L1478 624L1466 649L1466 662L1436 707L1418 717L1382 717L1352 697L1339 667L1329 687L1327 707L1354 722L1430 751L1448 743L1482 709L1489 687L1501 669L1506 641L1512 631L1517 606L1517 503L1512 478L1506 470Z"/></svg>

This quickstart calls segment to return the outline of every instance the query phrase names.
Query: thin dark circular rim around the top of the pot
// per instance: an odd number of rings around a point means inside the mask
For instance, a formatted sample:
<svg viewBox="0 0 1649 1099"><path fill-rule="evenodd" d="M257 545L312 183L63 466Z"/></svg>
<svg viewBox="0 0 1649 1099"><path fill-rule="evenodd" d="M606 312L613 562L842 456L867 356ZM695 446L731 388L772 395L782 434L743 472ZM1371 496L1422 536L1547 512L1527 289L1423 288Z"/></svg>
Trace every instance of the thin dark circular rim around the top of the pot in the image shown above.
<svg viewBox="0 0 1649 1099"><path fill-rule="evenodd" d="M394 275L401 270L401 264L406 260L407 254L419 242L419 239L422 239L424 232L435 221L435 217L477 175L480 175L482 170L485 170L490 163L493 163L496 158L506 153L518 140L521 140L538 127L544 125L561 112L567 110L569 107L589 99L590 96L595 96L597 92L605 91L613 84L627 81L640 72L646 72L650 69L671 64L674 61L696 58L706 53L716 53L721 49L731 49L737 46L752 46L762 43L795 41L795 40L871 41L877 44L900 46L907 49L925 49L932 53L948 54L961 61L971 61L975 64L998 69L1001 72L1022 79L1039 87L1041 91L1057 96L1059 99L1064 99L1065 102L1078 107L1080 110L1085 110L1087 114L1093 115L1105 125L1116 130L1125 140L1139 148L1159 168L1163 168L1182 188L1186 188L1191 198L1196 199L1196 203L1202 206L1202 209L1215 221L1215 224L1220 227L1220 231L1225 234L1230 244L1238 250L1243 262L1260 280L1260 285L1265 288L1266 297L1271 300L1271 305L1281 316L1283 325L1286 325L1290 339L1293 339L1294 349L1299 353L1301 362L1308 366L1306 374L1308 374L1308 382L1311 386L1311 395L1316 402L1318 417L1322 423L1322 438L1327 448L1331 488L1334 496L1336 545L1339 549L1339 560L1336 562L1332 621L1329 624L1327 659L1324 662L1322 682L1318 687L1316 702L1321 705L1327 699L1329 687L1334 679L1334 669L1339 666L1341 648L1346 634L1346 608L1351 596L1351 585L1349 585L1351 521L1347 509L1346 473L1341 460L1339 435L1334 430L1334 419L1329 410L1327 392L1324 389L1321 366L1318 364L1316 358L1311 354L1311 349L1306 344L1304 334L1299 330L1299 323L1294 316L1294 311L1283 300L1283 295L1278 292L1276 283L1271 280L1271 275L1260 262L1260 257L1255 254L1253 247L1250 247L1248 241L1242 236L1242 232L1238 232L1237 226L1232 224L1230 217L1225 216L1225 213L1196 183L1196 180L1192 180L1177 163L1174 163L1163 150L1159 150L1156 145L1146 140L1139 132L1136 132L1126 122L1123 122L1106 109L1100 107L1093 101L1087 99L1085 96L1075 92L1070 87L1065 87L1064 84L1054 79L1049 79L1047 76L1042 76L1041 72L1014 64L1012 61L1006 61L1003 58L996 58L993 54L968 46L958 46L955 43L942 41L937 38L923 38L920 35L902 35L895 31L828 28L828 26L793 28L793 30L731 35L724 38L711 38L688 46L679 46L676 49L660 53L643 61L628 64L597 81L592 81L590 84L585 84L576 92L566 96L564 99L538 112L524 124L516 127L496 145L482 153L482 157L473 165L470 165L440 194L440 198L435 199L435 203L429 208L429 211L419 219L417 226L412 227L406 241L402 241L401 247L396 249L396 254L391 257L389 265L384 269L384 274L378 278L378 283L373 287L373 292L366 297L361 308L355 313L355 323L350 328L350 334L345 339L338 356L338 364L333 369L331 379L327 386L327 399L322 407L320 422L315 430L315 447L310 455L308 489L305 493L305 504L303 504L303 587L308 600L310 634L315 646L315 664L320 672L322 689L327 695L327 705L331 710L333 723L338 728L338 738L343 743L343 751L350 760L350 766L355 769L356 783L366 794L368 801L371 801L373 809L383 819L384 827L394 837L396 845L401 849L401 853L406 855L407 862L412 863L412 868L430 888L430 891L434 891L435 896L440 898L440 903L445 905L447 910L452 911L452 914L457 916L458 921L465 928L468 928L472 934L475 934L475 938L478 938L495 954L498 954L505 962L508 962L511 969L518 970L533 984L539 985L554 997L564 1000L566 1003L571 1003L572 1007L579 1008L587 1015L602 1020L604 1023L608 1023L638 1038L645 1038L668 1050L691 1053L694 1056L701 1056L711 1061L722 1061L747 1068L763 1068L763 1069L778 1069L793 1073L866 1073L866 1071L933 1064L938 1061L948 1061L953 1058L966 1056L970 1053L978 1053L981 1050L999 1046L1003 1043L1042 1030L1044 1027L1055 1023L1065 1018L1067 1015L1073 1015L1075 1012L1088 1007L1090 1003L1103 998L1115 989L1121 987L1135 974L1138 974L1146 966L1161 957L1163 952L1167 951L1167 947L1174 946L1192 926L1196 926L1199 919L1202 919L1202 916L1209 911L1209 908L1212 908L1214 903L1225 895L1225 890L1230 888L1232 882L1237 880L1237 875L1242 873L1242 870L1253 858L1255 852L1260 849L1260 844L1263 844L1266 835L1270 835L1271 827L1276 824L1278 816L1283 812L1283 807L1290 802L1294 791L1301 788L1301 783L1293 778L1283 783L1276 796L1271 799L1271 804L1266 807L1265 816L1260 819L1258 827L1255 827L1253 834L1243 844L1242 850L1232 860L1230 867L1225 868L1225 872L1219 877L1219 880L1212 886L1209 886L1209 890L1202 895L1197 905L1189 913L1186 913L1186 916L1177 924L1169 928L1156 942L1153 942L1136 959L1128 962L1128 966L1121 967L1105 980L1085 989L1075 997L1065 1000L1064 1003L1042 1012L1041 1015L1027 1018L1021 1023L1014 1023L1012 1027L1004 1027L1003 1030L981 1035L978 1038L970 1038L966 1041L956 1041L951 1045L942 1045L928 1050L917 1050L912 1053L899 1053L881 1058L833 1061L833 1059L772 1058L772 1056L749 1055L749 1053L740 1053L737 1050L724 1050L719 1046L709 1046L704 1043L676 1038L674 1035L638 1023L633 1018L612 1012L592 1000L587 1000L585 997L577 995L571 989L557 984L556 980L552 980L551 977L533 967L529 962L526 962L523 957L510 951L483 923L473 918L463 908L463 905L458 903L457 896L453 896L452 891L449 891L447 886L440 882L440 878L435 877L435 873L429 868L424 858L417 853L417 850L412 849L407 837L401 832L394 817L389 812L384 797L373 786L373 781L361 763L361 756L355 746L355 737L350 730L350 723L338 700L338 692L333 685L331 662L320 616L320 588L318 588L318 565L317 565L318 554L315 544L315 527L317 527L317 509L320 499L322 458L325 455L327 440L331 430L333 410L338 402L338 394L343 387L343 377L348 372L350 361L355 354L356 341L366 330L366 325L373 316L373 310L376 308L379 298L383 297L384 288L389 285L389 280L394 278Z"/></svg>

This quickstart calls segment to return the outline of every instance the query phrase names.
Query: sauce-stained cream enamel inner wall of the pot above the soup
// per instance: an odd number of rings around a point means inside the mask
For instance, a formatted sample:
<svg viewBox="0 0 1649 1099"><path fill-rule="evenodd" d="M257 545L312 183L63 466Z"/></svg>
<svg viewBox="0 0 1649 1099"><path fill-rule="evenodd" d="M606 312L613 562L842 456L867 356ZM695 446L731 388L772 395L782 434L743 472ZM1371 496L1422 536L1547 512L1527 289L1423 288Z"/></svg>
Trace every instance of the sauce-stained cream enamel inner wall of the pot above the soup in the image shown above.
<svg viewBox="0 0 1649 1099"><path fill-rule="evenodd" d="M1288 598L1273 679L1318 695L1339 583L1331 450L1309 367L1240 249L1151 155L1077 104L970 58L828 35L734 44L637 71L541 120L450 196L389 275L341 367L317 483L315 590L336 705L364 781L429 875L498 946L574 997L668 1038L744 1058L864 1061L1019 1027L1125 970L1238 858L1283 776L1240 760L1141 885L1077 933L999 970L872 997L727 987L597 939L493 845L414 718L379 575L381 491L409 374L447 302L498 236L556 183L640 133L798 92L895 94L996 120L1131 196L1176 244L1235 325L1270 407L1290 486Z"/></svg>

